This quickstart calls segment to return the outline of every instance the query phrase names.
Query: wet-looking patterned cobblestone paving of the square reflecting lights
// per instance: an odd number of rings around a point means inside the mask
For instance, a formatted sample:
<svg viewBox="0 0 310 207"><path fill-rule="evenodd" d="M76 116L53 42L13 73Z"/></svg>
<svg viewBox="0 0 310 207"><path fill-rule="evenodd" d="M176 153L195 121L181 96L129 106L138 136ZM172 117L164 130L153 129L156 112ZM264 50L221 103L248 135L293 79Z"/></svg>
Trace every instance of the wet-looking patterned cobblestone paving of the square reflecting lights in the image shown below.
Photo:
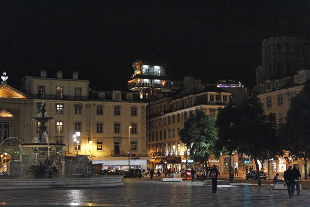
<svg viewBox="0 0 310 207"><path fill-rule="evenodd" d="M127 178L124 186L78 189L24 189L1 191L0 206L5 207L308 207L310 190L288 197L287 190L270 191L268 185L233 183L211 186L160 182L159 179ZM246 181L245 181L246 182Z"/></svg>

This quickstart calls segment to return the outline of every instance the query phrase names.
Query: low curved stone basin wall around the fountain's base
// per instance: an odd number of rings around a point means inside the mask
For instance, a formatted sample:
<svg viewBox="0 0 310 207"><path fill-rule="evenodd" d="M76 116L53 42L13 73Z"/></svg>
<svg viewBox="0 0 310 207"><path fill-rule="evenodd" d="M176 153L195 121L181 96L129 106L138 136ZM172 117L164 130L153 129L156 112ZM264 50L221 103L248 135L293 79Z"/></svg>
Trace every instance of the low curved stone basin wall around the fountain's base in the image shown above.
<svg viewBox="0 0 310 207"><path fill-rule="evenodd" d="M112 187L124 185L123 176L50 179L0 179L1 189L34 189L34 188L89 188Z"/></svg>

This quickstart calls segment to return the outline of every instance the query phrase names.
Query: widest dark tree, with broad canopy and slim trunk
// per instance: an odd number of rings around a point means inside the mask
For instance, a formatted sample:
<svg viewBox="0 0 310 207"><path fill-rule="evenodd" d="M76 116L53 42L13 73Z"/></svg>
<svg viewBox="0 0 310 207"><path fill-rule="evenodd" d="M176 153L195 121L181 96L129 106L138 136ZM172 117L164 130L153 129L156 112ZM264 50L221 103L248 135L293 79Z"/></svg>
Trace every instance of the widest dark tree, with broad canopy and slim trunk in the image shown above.
<svg viewBox="0 0 310 207"><path fill-rule="evenodd" d="M277 119L274 113L266 115L258 97L250 97L237 106L230 104L218 109L216 127L218 139L213 152L231 156L234 151L250 156L257 168L257 180L261 185L258 160L271 155L282 155L278 137Z"/></svg>

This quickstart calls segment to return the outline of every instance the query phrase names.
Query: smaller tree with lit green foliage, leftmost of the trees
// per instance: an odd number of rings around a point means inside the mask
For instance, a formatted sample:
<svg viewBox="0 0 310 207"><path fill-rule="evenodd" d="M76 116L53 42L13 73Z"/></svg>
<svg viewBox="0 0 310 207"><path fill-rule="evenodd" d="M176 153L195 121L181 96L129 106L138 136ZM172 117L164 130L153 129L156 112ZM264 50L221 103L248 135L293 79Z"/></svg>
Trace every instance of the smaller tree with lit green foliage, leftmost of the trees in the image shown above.
<svg viewBox="0 0 310 207"><path fill-rule="evenodd" d="M216 138L215 119L203 111L191 114L184 123L184 128L180 130L180 141L189 149L189 155L194 162L204 163L205 170Z"/></svg>

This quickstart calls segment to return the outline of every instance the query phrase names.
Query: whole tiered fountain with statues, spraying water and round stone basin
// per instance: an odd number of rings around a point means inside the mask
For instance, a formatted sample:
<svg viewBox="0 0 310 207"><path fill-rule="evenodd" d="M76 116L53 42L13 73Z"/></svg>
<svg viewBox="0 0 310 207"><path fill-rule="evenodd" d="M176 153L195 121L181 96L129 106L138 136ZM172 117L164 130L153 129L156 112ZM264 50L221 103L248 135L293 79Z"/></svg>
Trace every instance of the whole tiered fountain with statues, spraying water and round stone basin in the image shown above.
<svg viewBox="0 0 310 207"><path fill-rule="evenodd" d="M9 163L9 176L5 176L4 179L2 179L4 176L0 177L0 185L3 189L124 185L122 176L94 176L92 161L88 156L77 156L75 162L64 161L62 148L65 144L49 143L48 141L46 123L53 118L46 117L43 104L41 113L41 117L32 118L40 124L39 138L35 143L20 144L20 148L24 152L20 156L20 161L11 161Z"/></svg>

